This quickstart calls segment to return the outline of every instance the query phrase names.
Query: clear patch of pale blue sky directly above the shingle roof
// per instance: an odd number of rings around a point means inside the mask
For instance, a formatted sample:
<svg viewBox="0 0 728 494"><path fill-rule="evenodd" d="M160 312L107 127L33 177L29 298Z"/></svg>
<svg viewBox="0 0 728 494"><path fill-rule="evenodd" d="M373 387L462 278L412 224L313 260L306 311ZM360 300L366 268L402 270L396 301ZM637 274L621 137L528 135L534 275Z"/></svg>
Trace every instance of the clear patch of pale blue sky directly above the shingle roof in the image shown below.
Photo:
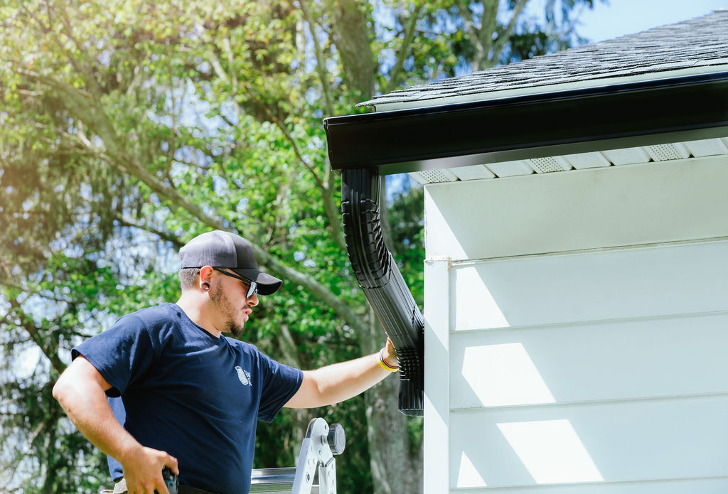
<svg viewBox="0 0 728 494"><path fill-rule="evenodd" d="M658 25L674 24L728 8L728 0L595 0L593 10L581 16L579 33L590 41L604 41L638 33Z"/></svg>

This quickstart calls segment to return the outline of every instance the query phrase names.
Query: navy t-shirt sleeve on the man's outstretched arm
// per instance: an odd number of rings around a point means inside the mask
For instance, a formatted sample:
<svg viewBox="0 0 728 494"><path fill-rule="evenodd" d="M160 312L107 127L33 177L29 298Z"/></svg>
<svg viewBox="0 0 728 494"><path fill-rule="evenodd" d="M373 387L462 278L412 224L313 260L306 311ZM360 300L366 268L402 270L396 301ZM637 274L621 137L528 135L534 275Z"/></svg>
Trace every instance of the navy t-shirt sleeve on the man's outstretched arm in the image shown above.
<svg viewBox="0 0 728 494"><path fill-rule="evenodd" d="M261 375L264 379L258 419L270 422L301 387L304 373L289 365L276 362L265 354L259 355Z"/></svg>

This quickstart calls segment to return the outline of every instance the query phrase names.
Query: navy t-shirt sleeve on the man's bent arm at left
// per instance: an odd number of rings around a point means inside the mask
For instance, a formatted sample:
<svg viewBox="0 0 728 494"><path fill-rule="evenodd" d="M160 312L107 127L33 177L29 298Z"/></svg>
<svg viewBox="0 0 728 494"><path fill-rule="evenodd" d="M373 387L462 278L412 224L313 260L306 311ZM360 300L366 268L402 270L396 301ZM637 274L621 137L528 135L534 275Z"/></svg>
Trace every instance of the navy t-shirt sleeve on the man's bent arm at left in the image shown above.
<svg viewBox="0 0 728 494"><path fill-rule="evenodd" d="M159 355L159 335L153 333L138 316L128 314L73 348L71 357L83 355L111 384L106 394L118 397L149 370Z"/></svg>

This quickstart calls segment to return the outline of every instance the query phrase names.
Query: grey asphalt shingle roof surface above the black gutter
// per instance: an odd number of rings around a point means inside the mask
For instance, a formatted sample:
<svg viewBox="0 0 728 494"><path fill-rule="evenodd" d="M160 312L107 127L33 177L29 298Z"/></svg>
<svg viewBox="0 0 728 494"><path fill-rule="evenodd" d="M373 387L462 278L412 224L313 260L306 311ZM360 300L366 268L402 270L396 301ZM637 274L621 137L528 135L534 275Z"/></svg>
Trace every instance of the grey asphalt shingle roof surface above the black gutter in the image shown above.
<svg viewBox="0 0 728 494"><path fill-rule="evenodd" d="M414 103L554 84L728 65L728 9L641 33L372 97L360 105ZM609 81L606 81L609 84ZM443 103L445 103L443 101ZM432 104L432 101L430 101Z"/></svg>

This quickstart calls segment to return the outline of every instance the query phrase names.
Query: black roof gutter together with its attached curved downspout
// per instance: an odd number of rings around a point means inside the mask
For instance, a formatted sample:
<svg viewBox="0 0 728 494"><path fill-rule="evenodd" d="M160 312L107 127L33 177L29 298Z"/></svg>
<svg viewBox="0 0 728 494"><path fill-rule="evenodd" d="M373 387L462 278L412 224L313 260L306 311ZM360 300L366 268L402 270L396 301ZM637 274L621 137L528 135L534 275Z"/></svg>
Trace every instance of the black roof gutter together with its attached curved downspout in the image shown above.
<svg viewBox="0 0 728 494"><path fill-rule="evenodd" d="M325 119L352 269L397 348L400 411L424 405L424 322L379 218L380 175L728 135L728 72Z"/></svg>

